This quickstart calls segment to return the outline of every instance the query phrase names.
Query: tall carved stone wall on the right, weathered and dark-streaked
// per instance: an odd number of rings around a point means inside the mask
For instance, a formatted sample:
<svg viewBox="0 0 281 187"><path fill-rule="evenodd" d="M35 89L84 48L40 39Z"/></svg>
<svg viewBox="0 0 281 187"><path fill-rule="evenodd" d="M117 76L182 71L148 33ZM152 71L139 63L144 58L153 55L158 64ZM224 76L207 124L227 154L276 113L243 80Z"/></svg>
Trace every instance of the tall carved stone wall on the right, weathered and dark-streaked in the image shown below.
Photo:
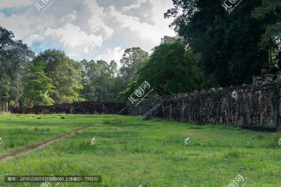
<svg viewBox="0 0 281 187"><path fill-rule="evenodd" d="M147 98L137 106L130 102L127 113L144 115L161 103L162 111L159 116L169 120L280 127L281 82L275 83L272 79L267 79L266 82L259 83L260 79L261 77L254 78L254 86L217 87L210 92L196 90L194 93ZM233 93L234 90L236 91Z"/></svg>

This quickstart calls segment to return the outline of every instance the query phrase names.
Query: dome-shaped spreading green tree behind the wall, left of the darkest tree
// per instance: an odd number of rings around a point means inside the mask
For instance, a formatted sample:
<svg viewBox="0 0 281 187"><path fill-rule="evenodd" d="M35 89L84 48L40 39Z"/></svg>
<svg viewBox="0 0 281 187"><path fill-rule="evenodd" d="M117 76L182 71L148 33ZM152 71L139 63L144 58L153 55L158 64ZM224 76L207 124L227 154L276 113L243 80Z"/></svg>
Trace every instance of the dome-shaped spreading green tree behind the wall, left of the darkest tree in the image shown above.
<svg viewBox="0 0 281 187"><path fill-rule="evenodd" d="M129 84L116 100L128 100L144 81L150 84L150 89L153 88L150 94L161 96L195 89L210 89L214 85L212 76L204 75L203 70L197 66L194 55L185 50L182 41L155 47L148 62L139 68L137 74L137 81ZM149 91L145 90L145 93Z"/></svg>

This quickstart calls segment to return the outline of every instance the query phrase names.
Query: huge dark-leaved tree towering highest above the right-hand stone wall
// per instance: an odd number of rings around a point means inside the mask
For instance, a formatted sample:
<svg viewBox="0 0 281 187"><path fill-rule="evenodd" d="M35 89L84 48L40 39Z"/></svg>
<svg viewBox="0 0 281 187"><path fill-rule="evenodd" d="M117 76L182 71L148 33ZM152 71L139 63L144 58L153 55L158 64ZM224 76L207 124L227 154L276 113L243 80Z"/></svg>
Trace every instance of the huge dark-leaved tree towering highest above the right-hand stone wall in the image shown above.
<svg viewBox="0 0 281 187"><path fill-rule="evenodd" d="M223 2L173 0L175 7L164 17L175 17L170 27L190 43L193 53L200 54L199 65L205 74L214 74L219 86L250 84L253 74L260 76L270 63L270 47L260 48L259 42L267 24L278 17L252 17L262 0L242 1L232 12L225 11Z"/></svg>

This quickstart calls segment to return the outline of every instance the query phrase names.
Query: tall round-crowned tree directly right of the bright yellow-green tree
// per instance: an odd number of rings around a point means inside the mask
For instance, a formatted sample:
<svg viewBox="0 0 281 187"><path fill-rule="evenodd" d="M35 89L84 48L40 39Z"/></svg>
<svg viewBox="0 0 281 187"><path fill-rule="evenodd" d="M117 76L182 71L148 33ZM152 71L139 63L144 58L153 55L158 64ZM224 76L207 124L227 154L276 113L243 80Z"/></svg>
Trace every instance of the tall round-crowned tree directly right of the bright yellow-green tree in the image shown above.
<svg viewBox="0 0 281 187"><path fill-rule="evenodd" d="M34 61L43 61L45 73L53 80L56 87L51 93L57 104L72 103L81 100L79 90L83 89L81 82L81 63L70 59L64 51L48 49L40 52ZM83 100L83 99L82 99Z"/></svg>

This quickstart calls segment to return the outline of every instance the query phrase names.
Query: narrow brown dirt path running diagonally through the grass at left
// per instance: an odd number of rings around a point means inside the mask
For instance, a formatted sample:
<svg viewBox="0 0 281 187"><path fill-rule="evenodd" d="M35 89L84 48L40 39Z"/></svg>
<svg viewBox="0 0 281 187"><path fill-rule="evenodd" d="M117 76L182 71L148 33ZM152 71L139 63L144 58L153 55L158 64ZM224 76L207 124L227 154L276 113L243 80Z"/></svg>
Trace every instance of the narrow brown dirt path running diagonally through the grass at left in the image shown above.
<svg viewBox="0 0 281 187"><path fill-rule="evenodd" d="M83 127L83 128L77 129L77 130L75 130L75 131L71 131L71 132L69 132L69 133L67 133L67 134L64 134L64 135L62 135L62 136L59 136L59 137L53 138L53 139L51 139L51 140L45 141L45 142L40 143L40 144L38 144L38 145L36 145L36 146L33 146L33 147L31 147L31 148L23 149L23 150L21 150L21 151L17 151L17 152L14 152L14 153L9 153L9 154L7 154L7 155L2 156L2 157L0 158L0 161L5 161L5 160L7 160L8 158L15 157L15 156L20 155L20 154L23 154L23 153L25 153L25 152L33 151L33 150L35 150L35 149L40 149L41 147L47 146L48 144L52 143L53 141L57 141L57 140L62 139L62 138L64 138L64 137L66 137L66 136L70 136L70 135L74 134L75 132L79 132L79 131L81 131L81 130L83 130L83 129L85 129L85 128L91 127L91 126L93 126L93 125L89 125L89 126L87 126L87 127Z"/></svg>

